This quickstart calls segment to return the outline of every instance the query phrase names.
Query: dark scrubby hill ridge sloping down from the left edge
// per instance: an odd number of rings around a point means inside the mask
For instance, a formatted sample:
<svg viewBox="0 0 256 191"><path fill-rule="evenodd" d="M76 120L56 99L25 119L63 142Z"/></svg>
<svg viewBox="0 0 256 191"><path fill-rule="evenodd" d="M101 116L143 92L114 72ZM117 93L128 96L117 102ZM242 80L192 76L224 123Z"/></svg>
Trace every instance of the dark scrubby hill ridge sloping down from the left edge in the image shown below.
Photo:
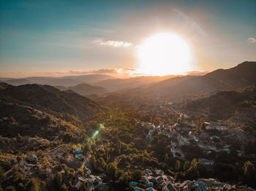
<svg viewBox="0 0 256 191"><path fill-rule="evenodd" d="M29 106L40 106L53 112L64 112L75 117L83 117L101 111L95 101L73 91L61 91L50 85L12 86L0 83L2 101L18 102Z"/></svg>

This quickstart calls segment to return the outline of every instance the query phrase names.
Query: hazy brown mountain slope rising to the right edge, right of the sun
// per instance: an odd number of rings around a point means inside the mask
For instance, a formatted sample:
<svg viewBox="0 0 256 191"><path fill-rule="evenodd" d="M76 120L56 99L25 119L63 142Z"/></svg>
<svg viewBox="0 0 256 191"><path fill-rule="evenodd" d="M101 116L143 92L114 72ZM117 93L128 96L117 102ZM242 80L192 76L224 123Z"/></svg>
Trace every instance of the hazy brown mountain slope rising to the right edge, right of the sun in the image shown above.
<svg viewBox="0 0 256 191"><path fill-rule="evenodd" d="M256 85L256 62L244 62L231 69L217 69L200 77L186 79L169 79L158 82L154 88L149 87L148 91L165 93L170 98L177 98L181 95L192 95L201 93L217 93L221 90L235 90L246 86ZM182 80L186 79L186 80ZM173 82L176 81L176 82Z"/></svg>

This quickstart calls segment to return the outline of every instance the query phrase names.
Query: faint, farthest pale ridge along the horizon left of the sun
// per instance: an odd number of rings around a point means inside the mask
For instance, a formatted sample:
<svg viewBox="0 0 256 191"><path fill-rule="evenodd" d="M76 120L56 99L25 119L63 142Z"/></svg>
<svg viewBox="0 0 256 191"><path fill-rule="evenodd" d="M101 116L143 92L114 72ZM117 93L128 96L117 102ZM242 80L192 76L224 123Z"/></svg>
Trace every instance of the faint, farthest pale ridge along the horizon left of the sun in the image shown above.
<svg viewBox="0 0 256 191"><path fill-rule="evenodd" d="M8 79L0 78L1 82L10 85L26 85L26 84L39 84L39 85L60 85L64 87L78 85L80 83L95 83L105 79L116 79L115 77L105 74L89 74L80 76L67 76L67 77L27 77L23 79Z"/></svg>

